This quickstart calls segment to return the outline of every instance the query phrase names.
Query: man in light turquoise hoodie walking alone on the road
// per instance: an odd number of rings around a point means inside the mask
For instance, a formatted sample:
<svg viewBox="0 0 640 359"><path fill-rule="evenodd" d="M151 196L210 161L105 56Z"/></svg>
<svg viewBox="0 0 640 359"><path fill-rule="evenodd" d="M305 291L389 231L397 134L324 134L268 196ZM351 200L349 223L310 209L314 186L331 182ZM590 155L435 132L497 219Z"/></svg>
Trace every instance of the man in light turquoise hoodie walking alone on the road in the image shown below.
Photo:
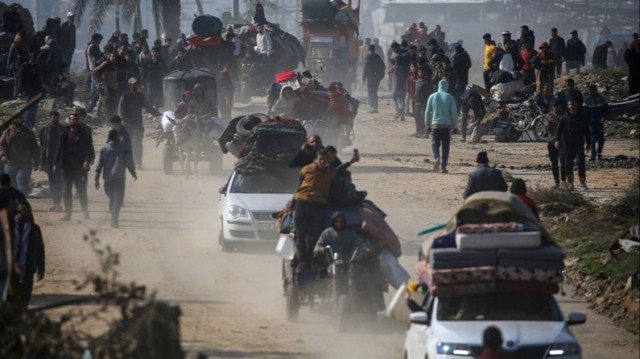
<svg viewBox="0 0 640 359"><path fill-rule="evenodd" d="M451 131L457 131L458 111L456 109L456 100L447 90L449 84L445 80L438 83L438 91L427 101L427 109L424 114L424 121L427 127L427 134L433 132L431 137L431 147L436 162L433 170L441 170L442 173L448 173L447 162L449 160L449 144L451 142ZM442 158L440 157L440 144L442 143Z"/></svg>

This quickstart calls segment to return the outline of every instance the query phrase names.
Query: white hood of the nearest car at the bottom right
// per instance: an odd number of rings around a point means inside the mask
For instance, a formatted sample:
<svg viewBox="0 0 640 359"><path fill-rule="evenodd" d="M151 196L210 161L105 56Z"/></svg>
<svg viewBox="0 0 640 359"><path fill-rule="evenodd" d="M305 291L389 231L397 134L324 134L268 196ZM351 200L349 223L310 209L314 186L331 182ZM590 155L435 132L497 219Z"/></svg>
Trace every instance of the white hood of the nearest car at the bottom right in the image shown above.
<svg viewBox="0 0 640 359"><path fill-rule="evenodd" d="M489 326L500 329L507 350L524 345L576 341L570 331L564 330L564 321L445 321L434 325L433 333L441 342L482 346L482 332Z"/></svg>

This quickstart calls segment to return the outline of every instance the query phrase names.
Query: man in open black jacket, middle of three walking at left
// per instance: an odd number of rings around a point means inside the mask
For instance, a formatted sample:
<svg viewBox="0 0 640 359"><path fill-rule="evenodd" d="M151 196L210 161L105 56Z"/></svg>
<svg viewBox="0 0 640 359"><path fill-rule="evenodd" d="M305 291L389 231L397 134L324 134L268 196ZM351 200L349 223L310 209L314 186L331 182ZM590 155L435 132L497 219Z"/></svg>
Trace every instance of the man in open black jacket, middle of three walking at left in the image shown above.
<svg viewBox="0 0 640 359"><path fill-rule="evenodd" d="M78 121L78 115L69 115L69 126L60 136L60 146L53 165L53 172L62 170L62 199L64 201L65 216L61 221L71 220L71 210L73 208L72 187L76 187L80 198L80 207L84 212L84 219L89 219L89 208L87 205L87 182L86 173L89 172L91 161L93 160L93 148L91 138Z"/></svg>

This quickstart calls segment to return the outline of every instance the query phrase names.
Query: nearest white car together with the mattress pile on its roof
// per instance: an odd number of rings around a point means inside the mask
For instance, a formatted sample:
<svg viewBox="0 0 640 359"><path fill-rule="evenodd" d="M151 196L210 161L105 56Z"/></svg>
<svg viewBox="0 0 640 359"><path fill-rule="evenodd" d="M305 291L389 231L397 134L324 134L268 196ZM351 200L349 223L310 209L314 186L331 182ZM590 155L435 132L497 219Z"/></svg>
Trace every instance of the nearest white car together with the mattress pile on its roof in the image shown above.
<svg viewBox="0 0 640 359"><path fill-rule="evenodd" d="M565 318L554 298L564 253L517 197L469 197L421 253L410 300L398 293L388 310L397 318L408 303L412 311L405 358L478 357L491 326L501 332L504 358L582 358L569 326L586 315Z"/></svg>

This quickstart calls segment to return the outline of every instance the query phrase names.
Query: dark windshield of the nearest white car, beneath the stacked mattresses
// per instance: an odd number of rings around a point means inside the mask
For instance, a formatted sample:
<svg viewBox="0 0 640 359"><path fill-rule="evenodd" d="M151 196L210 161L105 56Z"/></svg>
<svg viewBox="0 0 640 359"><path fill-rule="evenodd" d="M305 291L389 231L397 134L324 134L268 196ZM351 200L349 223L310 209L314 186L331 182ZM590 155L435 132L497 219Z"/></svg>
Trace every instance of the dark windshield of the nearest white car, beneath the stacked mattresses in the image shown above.
<svg viewBox="0 0 640 359"><path fill-rule="evenodd" d="M551 295L490 293L440 299L437 318L440 321L561 321L562 315Z"/></svg>

